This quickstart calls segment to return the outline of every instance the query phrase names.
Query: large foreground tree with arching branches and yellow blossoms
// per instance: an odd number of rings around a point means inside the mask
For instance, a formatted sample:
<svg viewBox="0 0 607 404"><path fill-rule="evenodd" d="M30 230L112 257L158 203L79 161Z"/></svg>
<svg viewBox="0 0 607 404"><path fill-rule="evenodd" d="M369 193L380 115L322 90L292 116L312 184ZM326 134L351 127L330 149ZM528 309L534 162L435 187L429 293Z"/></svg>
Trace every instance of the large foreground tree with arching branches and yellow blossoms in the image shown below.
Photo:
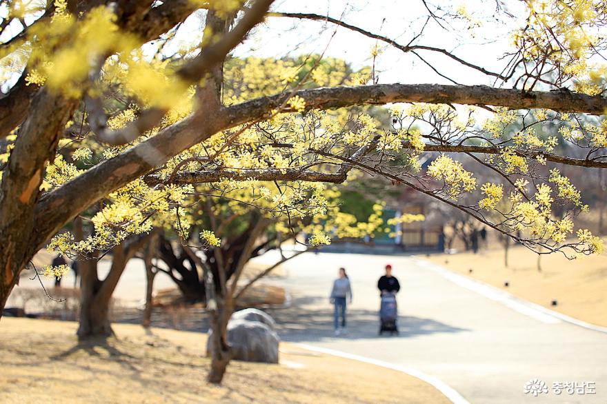
<svg viewBox="0 0 607 404"><path fill-rule="evenodd" d="M342 183L356 169L444 201L529 248L570 256L600 252L601 240L588 230L568 239L572 217L586 205L570 179L544 164L607 167L607 129L599 117L607 107L600 62L604 4L485 5L495 7L490 21L498 19L512 39L497 73L455 51L426 45L429 26L454 31L454 40L464 44L468 39L461 32L474 32L483 21L463 7L423 3L426 23L412 25L412 40L404 45L346 17L270 10L271 0L57 0L42 7L3 1L8 15L2 25L21 28L1 44L8 78L3 88L10 90L0 100L0 137L8 150L0 186L0 307L35 252L90 205L108 197L95 237L118 245L142 232L147 222L135 219L142 212L166 212L172 205L179 222L186 212L182 195L192 183L286 181L310 187L304 184ZM523 24L516 17L521 12ZM170 45L190 14L205 21L200 40L175 51ZM491 79L494 85L379 83L376 46L372 70L352 78L336 80L321 54L301 65L286 60L275 65L281 81L226 97L222 65L253 28L263 35L264 19L306 19L357 32L419 58L441 81L455 81L439 70L444 60L475 74L466 82ZM388 103L412 104L395 105L389 115L371 107ZM490 110L490 119L479 118L480 108ZM513 132L508 126L519 119L517 111L535 121ZM597 118L588 123L579 119L584 114ZM559 130L542 139L535 128L546 122ZM57 160L66 141L94 141L94 150L85 146L77 155L103 158L74 170ZM584 151L584 157L556 152L559 141ZM424 168L427 152L441 155ZM478 188L474 172L445 153L474 156L499 181ZM60 183L43 183L58 170ZM461 203L466 195L474 203ZM490 219L488 212L503 199L512 208ZM281 200L279 208L297 202ZM319 234L317 241L328 238Z"/></svg>

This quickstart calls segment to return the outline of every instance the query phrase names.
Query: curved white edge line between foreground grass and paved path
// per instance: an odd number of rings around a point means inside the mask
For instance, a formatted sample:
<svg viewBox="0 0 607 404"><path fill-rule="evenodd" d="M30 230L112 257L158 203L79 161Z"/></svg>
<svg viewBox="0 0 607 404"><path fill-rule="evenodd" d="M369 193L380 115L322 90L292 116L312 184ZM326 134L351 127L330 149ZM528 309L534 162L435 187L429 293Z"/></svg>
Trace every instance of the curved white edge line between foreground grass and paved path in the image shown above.
<svg viewBox="0 0 607 404"><path fill-rule="evenodd" d="M348 354L348 352L341 352L336 350L330 350L329 348L317 347L314 345L302 344L302 343L292 343L291 345L296 345L305 350L321 352L322 354L328 354L333 356L340 356L341 358L352 359L354 361L360 361L365 363L370 363L371 365L377 365L381 367L386 367L388 369L396 370L397 372L403 372L409 374L410 376L417 377L422 381L432 385L439 392L444 394L453 404L470 404L466 398L461 396L453 387L441 381L439 378L435 376L430 376L424 372L420 372L419 370L412 369L410 367L394 365L392 363L378 361L377 359L367 358L366 356L359 356L355 354Z"/></svg>

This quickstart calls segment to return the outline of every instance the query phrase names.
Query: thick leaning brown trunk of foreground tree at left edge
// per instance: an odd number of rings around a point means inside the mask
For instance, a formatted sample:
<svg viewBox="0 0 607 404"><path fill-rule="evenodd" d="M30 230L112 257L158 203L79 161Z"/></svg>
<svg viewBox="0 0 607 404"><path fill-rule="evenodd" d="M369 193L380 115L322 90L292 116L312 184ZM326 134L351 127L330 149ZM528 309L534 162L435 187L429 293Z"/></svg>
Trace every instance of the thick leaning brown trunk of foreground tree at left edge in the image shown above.
<svg viewBox="0 0 607 404"><path fill-rule="evenodd" d="M0 183L0 317L23 267L50 234L41 234L34 219L43 170L54 159L59 133L77 107L77 101L42 90L32 99L32 114L21 125ZM72 219L68 216L66 221ZM39 237L40 243L32 243ZM43 240L42 240L43 239Z"/></svg>

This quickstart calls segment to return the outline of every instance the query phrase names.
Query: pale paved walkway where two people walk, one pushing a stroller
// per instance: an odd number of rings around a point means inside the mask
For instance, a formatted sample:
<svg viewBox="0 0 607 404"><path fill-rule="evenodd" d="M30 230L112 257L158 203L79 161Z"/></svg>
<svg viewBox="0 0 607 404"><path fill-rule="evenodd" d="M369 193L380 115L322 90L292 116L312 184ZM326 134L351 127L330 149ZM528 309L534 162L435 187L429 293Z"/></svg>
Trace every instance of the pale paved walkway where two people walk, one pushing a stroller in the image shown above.
<svg viewBox="0 0 607 404"><path fill-rule="evenodd" d="M377 335L375 285L386 263L403 287L400 336ZM335 337L328 293L340 266L348 270L354 303L347 335ZM432 264L406 256L302 254L290 261L286 275L277 282L292 292L293 305L272 311L285 341L412 367L470 403L607 403L607 334L484 296ZM545 381L548 394L524 394L532 378ZM553 382L595 382L596 394L556 395Z"/></svg>

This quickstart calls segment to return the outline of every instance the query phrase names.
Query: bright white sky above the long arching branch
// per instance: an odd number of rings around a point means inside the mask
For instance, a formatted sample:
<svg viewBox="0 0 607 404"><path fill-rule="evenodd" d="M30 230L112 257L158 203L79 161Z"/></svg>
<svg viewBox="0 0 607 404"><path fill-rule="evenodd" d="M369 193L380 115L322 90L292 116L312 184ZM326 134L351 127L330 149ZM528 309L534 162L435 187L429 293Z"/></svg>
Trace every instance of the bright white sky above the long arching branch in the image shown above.
<svg viewBox="0 0 607 404"><path fill-rule="evenodd" d="M461 0L441 1L443 10L455 10L464 4ZM484 21L483 25L468 30L470 22L464 19L455 21L450 30L444 30L434 21L430 21L424 35L414 44L434 46L452 51L461 59L481 65L488 70L500 72L505 60L499 60L508 49L509 32L519 21L508 20L508 26L496 21L495 2L467 0L466 11L473 20ZM428 3L435 10L432 3ZM328 15L373 33L395 39L405 45L426 22L428 11L421 0L279 0L272 10L281 12L310 12ZM509 9L520 14L520 2L513 1ZM438 12L442 14L442 12ZM198 37L200 18L190 18L177 37L177 42L186 43ZM492 21L492 22L486 22ZM351 63L355 68L372 63L371 48L375 39L338 28L335 37L335 25L324 21L308 21L291 18L270 17L246 43L239 46L236 56L254 54L257 57L299 56L300 54L321 53L328 46L326 55L339 57ZM471 34L474 34L472 37ZM450 83L433 72L414 54L404 54L386 43L379 43L383 52L376 61L379 70L379 83ZM467 68L448 57L430 51L419 51L421 57L431 63L441 73L448 75L461 84L492 85L491 77Z"/></svg>

